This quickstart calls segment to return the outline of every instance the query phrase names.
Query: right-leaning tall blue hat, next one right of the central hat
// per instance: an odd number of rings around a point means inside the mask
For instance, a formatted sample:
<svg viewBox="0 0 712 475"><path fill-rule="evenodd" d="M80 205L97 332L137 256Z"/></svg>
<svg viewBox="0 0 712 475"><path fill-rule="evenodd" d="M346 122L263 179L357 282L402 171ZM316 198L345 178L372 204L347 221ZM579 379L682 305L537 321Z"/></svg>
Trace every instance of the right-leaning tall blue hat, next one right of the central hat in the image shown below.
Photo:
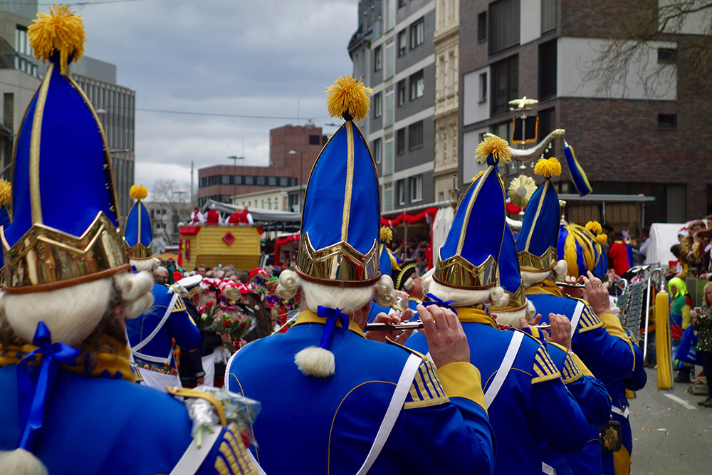
<svg viewBox="0 0 712 475"><path fill-rule="evenodd" d="M511 160L511 153L507 141L496 135L488 135L476 152L478 160L488 167L464 194L439 249L440 261L433 279L444 286L483 290L498 283L506 199L496 167Z"/></svg>

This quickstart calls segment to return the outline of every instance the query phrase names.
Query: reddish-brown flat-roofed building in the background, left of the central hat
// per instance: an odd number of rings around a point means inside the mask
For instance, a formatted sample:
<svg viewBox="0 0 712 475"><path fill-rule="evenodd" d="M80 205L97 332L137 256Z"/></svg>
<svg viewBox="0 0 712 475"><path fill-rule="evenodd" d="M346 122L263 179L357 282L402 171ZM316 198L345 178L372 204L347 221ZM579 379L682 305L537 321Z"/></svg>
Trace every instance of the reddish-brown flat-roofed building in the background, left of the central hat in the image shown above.
<svg viewBox="0 0 712 475"><path fill-rule="evenodd" d="M243 167L239 165L243 157L225 157L224 165L198 169L198 206L204 206L209 199L230 203L234 196L305 186L327 140L321 127L312 122L270 130L270 165ZM271 202L270 206L276 206L272 197Z"/></svg>

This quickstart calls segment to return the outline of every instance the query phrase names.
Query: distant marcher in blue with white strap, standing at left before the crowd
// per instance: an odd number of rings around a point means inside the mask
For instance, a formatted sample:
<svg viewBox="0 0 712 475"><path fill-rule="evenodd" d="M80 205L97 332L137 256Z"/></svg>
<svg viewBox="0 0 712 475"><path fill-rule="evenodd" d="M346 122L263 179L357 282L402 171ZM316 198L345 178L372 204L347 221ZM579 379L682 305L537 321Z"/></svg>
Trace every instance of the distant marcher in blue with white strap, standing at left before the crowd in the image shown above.
<svg viewBox="0 0 712 475"><path fill-rule="evenodd" d="M157 267L151 216L141 202L148 192L143 185L133 185L129 194L137 200L126 219L130 263L136 271L151 272ZM200 330L188 315L176 288L154 283L151 293L153 305L138 318L128 320L126 331L144 384L164 391L166 386L181 386L173 340L182 350L195 351L200 344Z"/></svg>

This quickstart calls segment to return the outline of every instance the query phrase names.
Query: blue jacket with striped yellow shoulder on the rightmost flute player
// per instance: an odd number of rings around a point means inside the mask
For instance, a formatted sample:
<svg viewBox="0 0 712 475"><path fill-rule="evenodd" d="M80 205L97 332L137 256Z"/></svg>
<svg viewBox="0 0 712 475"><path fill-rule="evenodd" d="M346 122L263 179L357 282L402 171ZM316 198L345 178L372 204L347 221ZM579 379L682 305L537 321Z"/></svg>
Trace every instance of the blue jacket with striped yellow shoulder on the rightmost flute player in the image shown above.
<svg viewBox="0 0 712 475"><path fill-rule="evenodd" d="M549 313L565 315L571 320L577 304L584 304L571 340L571 349L599 380L604 377L622 379L633 372L633 348L630 340L625 338L617 317L606 314L599 318L585 301L562 297L559 289L548 281L542 286L527 288L525 293L537 313L542 315L541 323L549 322ZM602 319L605 319L605 326Z"/></svg>

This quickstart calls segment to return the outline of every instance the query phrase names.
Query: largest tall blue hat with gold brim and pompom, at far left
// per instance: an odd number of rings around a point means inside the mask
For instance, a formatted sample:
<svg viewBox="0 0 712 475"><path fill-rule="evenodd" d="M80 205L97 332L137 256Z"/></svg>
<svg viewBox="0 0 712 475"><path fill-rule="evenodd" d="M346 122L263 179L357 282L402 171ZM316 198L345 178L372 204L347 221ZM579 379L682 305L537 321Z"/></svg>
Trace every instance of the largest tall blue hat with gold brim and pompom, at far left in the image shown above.
<svg viewBox="0 0 712 475"><path fill-rule="evenodd" d="M49 291L129 268L109 147L96 111L68 76L85 31L66 9L38 14L28 28L35 56L50 63L15 144L14 221L0 229L8 293Z"/></svg>

